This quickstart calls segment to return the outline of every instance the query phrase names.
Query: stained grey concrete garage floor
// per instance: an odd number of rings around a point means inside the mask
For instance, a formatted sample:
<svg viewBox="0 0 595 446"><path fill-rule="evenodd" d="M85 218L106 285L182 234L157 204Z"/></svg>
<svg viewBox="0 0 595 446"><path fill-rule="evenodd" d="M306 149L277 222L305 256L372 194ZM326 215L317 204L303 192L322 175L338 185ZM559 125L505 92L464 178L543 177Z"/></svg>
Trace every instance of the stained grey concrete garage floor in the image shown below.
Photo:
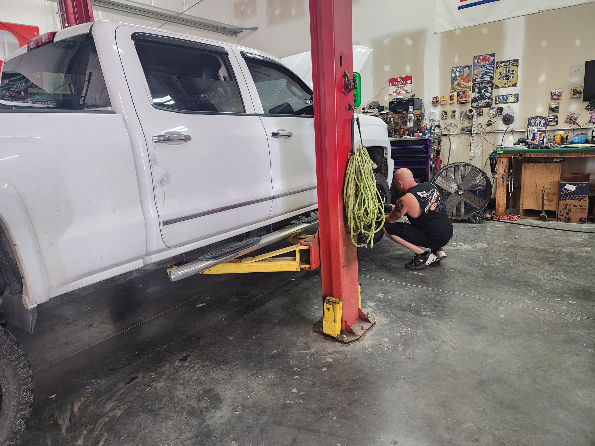
<svg viewBox="0 0 595 446"><path fill-rule="evenodd" d="M35 369L20 445L595 444L595 234L455 225L419 272L359 256L377 326L312 333L320 272L139 271L15 330Z"/></svg>

